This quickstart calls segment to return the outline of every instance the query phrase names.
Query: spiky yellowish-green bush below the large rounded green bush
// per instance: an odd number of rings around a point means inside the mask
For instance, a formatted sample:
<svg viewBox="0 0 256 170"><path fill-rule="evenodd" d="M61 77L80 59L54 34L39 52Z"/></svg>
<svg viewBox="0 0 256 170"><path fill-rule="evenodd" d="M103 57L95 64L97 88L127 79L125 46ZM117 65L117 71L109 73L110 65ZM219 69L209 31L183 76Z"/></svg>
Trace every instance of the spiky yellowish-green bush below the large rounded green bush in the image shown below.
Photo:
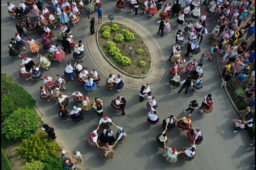
<svg viewBox="0 0 256 170"><path fill-rule="evenodd" d="M19 153L18 158L24 157L24 162L42 162L46 154L56 158L59 151L58 143L53 144L51 141L52 138L46 139L45 132L40 131L39 134L31 134L28 139L22 139L22 145L17 147L15 152Z"/></svg>

